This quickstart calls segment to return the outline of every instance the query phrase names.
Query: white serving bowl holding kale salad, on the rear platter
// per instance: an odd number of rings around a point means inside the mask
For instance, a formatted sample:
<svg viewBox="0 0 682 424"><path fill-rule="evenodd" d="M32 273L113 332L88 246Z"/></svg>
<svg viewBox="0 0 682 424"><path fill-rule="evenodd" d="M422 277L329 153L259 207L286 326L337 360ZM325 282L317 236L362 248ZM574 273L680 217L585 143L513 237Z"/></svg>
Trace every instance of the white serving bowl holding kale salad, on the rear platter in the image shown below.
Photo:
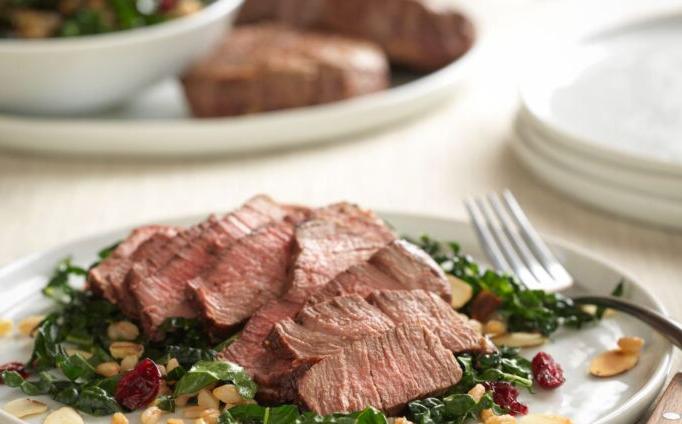
<svg viewBox="0 0 682 424"><path fill-rule="evenodd" d="M41 40L0 40L0 111L77 114L122 102L177 75L229 29L243 0L149 27Z"/></svg>

